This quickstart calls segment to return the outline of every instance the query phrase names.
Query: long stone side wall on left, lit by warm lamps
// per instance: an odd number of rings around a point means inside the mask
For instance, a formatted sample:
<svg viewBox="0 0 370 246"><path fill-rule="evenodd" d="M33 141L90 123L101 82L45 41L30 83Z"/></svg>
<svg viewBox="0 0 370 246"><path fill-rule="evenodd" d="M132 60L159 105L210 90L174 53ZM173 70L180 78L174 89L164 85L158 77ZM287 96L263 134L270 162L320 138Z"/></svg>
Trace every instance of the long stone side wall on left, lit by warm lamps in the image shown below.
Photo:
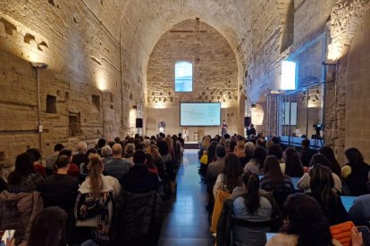
<svg viewBox="0 0 370 246"><path fill-rule="evenodd" d="M138 70L126 69L120 8L95 2L0 1L0 150L8 165L28 147L41 146L46 157L58 142L71 149L80 140L91 146L99 137L132 132L128 109L142 93ZM49 65L39 71L41 144L29 61ZM47 95L55 101L52 111Z"/></svg>

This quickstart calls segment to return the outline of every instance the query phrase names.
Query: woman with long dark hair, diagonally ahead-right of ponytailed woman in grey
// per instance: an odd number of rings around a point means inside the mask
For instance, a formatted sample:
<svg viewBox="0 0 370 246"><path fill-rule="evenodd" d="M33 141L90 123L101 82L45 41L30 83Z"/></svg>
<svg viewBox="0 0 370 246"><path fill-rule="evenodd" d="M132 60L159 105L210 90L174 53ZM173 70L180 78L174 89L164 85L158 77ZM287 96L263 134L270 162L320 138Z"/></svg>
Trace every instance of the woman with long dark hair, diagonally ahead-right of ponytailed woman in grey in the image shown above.
<svg viewBox="0 0 370 246"><path fill-rule="evenodd" d="M266 192L292 193L294 191L290 177L282 173L279 160L273 155L265 160L265 176L261 178L260 186Z"/></svg>

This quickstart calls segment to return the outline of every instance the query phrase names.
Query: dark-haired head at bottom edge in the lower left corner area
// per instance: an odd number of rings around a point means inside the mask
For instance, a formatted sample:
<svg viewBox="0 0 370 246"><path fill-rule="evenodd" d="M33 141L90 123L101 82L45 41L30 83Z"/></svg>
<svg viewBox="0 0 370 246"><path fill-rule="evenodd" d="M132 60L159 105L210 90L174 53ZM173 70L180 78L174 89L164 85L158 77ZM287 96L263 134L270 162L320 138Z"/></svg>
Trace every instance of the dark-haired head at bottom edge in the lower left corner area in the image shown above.
<svg viewBox="0 0 370 246"><path fill-rule="evenodd" d="M43 209L32 222L28 246L67 245L67 213L59 207Z"/></svg>

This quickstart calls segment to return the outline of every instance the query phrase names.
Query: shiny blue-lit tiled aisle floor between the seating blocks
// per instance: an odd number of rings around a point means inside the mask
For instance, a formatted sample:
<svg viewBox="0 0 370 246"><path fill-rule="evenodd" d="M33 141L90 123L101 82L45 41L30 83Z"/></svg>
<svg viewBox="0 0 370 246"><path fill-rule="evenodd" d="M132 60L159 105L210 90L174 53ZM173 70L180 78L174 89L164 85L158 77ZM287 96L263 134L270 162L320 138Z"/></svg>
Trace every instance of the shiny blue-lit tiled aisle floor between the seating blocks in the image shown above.
<svg viewBox="0 0 370 246"><path fill-rule="evenodd" d="M206 185L198 175L198 163L197 151L185 150L177 175L176 199L162 227L160 246L214 245L206 211Z"/></svg>

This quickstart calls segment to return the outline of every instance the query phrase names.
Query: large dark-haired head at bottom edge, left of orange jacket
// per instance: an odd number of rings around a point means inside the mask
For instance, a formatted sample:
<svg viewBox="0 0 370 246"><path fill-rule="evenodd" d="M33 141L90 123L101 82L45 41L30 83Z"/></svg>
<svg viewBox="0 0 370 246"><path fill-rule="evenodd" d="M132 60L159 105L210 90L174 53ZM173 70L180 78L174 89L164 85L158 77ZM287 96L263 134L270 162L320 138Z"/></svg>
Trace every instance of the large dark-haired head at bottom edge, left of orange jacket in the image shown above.
<svg viewBox="0 0 370 246"><path fill-rule="evenodd" d="M283 225L282 233L298 235L298 245L332 244L329 221L314 198L302 193L291 194L285 201L282 211L288 221Z"/></svg>

